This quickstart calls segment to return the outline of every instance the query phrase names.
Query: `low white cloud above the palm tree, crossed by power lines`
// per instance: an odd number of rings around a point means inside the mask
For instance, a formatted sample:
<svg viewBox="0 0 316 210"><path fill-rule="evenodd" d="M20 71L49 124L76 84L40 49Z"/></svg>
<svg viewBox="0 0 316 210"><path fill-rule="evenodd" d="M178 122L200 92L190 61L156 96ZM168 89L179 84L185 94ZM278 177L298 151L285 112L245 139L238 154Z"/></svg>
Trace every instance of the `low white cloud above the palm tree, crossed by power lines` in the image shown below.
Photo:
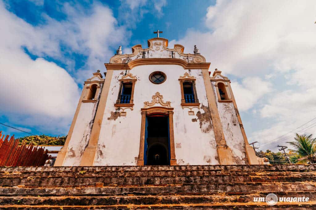
<svg viewBox="0 0 316 210"><path fill-rule="evenodd" d="M315 134L316 120L312 120L316 117L315 93L316 88L304 91L286 90L276 92L260 111L262 118L274 119L276 123L273 123L271 127L254 132L253 138L258 139L260 143L267 143L271 140L273 140L271 141L273 143L282 140L271 145L265 145L273 148L278 143L284 144L287 141L293 141L296 132L300 134ZM312 121L308 122L310 120ZM307 124L304 125L305 123ZM298 129L282 136L295 128ZM279 136L282 137L276 138Z"/></svg>

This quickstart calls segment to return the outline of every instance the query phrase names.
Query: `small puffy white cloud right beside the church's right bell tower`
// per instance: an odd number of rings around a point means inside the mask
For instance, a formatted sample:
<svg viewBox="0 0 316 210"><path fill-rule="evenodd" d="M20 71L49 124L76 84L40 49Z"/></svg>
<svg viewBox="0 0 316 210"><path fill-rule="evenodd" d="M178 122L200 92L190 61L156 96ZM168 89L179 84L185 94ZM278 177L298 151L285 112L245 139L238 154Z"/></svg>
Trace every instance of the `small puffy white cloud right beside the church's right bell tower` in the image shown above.
<svg viewBox="0 0 316 210"><path fill-rule="evenodd" d="M241 84L233 81L231 86L239 111L252 108L260 98L272 91L271 83L259 77L246 77Z"/></svg>

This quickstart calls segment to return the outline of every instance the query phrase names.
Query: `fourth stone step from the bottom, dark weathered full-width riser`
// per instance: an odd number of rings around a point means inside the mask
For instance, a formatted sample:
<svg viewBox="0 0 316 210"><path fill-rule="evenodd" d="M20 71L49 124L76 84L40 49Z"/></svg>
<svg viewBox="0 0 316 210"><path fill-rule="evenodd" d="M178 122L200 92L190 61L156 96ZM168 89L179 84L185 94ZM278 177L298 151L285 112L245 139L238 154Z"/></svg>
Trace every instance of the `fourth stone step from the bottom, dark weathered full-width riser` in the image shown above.
<svg viewBox="0 0 316 210"><path fill-rule="evenodd" d="M69 186L92 185L165 185L190 183L245 183L245 182L315 182L315 176L276 177L249 175L214 175L214 176L168 176L168 177L103 177L103 176L70 176L70 177L0 177L0 186Z"/></svg>

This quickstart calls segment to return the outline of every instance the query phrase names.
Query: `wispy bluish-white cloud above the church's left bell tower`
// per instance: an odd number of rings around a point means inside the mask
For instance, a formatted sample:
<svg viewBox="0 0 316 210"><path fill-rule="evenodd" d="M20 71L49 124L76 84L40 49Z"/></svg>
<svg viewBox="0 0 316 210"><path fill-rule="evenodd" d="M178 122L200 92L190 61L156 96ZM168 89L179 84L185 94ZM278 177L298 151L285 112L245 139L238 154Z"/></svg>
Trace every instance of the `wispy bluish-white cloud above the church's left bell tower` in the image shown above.
<svg viewBox="0 0 316 210"><path fill-rule="evenodd" d="M113 47L117 48L119 45L125 44L126 37L129 37L129 34L124 26L117 26L118 23L113 17L112 10L100 4L94 4L91 13L86 15L85 8L73 7L65 3L63 12L67 14L67 20L57 21L46 17L47 24L35 28L43 34L43 37L48 37L48 43L52 43L53 46L47 49L44 48L45 45L39 43L32 47L27 46L36 55L45 53L69 64L67 66L68 71L74 71L75 63L64 58L63 54L60 53L59 44L67 46L68 49L66 48L64 51L69 54L75 52L87 56L88 59L85 65L74 72L76 82L82 83L97 69L105 71L103 63L108 62L114 55Z"/></svg>

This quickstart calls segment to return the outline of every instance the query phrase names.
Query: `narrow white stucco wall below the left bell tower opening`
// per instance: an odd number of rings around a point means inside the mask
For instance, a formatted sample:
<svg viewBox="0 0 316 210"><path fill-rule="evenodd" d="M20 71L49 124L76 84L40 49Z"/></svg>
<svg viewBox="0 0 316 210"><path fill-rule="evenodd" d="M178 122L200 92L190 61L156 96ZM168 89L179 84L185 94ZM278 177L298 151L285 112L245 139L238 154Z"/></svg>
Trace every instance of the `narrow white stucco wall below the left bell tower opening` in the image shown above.
<svg viewBox="0 0 316 210"><path fill-rule="evenodd" d="M79 166L83 151L89 141L94 105L95 102L81 104L63 166Z"/></svg>

